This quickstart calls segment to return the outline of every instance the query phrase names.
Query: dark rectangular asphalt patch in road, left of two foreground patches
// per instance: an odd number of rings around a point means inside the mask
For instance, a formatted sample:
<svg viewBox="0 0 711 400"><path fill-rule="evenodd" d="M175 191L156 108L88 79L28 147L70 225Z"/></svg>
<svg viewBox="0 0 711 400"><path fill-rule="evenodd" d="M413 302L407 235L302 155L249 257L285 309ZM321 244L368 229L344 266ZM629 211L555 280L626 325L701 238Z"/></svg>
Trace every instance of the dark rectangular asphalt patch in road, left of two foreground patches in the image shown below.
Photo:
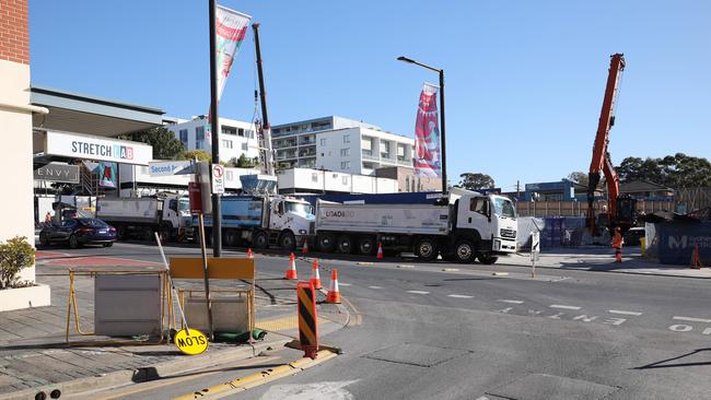
<svg viewBox="0 0 711 400"><path fill-rule="evenodd" d="M423 344L403 343L363 355L365 358L386 361L389 363L415 365L419 367L431 367L445 363L463 354L470 353L468 350L436 348Z"/></svg>

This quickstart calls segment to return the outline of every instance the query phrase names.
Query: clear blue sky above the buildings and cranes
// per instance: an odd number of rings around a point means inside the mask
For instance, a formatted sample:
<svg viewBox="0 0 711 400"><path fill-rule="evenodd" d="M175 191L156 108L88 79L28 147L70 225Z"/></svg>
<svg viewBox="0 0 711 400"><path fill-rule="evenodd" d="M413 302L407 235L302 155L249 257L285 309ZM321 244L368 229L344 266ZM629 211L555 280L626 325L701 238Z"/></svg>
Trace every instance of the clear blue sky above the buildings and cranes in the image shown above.
<svg viewBox="0 0 711 400"><path fill-rule="evenodd" d="M30 2L32 82L156 106L209 104L207 1ZM413 136L422 81L446 73L448 175L512 190L586 172L608 56L625 52L610 152L711 155L709 1L236 1L261 23L272 123L339 115ZM250 120L252 32L220 115Z"/></svg>

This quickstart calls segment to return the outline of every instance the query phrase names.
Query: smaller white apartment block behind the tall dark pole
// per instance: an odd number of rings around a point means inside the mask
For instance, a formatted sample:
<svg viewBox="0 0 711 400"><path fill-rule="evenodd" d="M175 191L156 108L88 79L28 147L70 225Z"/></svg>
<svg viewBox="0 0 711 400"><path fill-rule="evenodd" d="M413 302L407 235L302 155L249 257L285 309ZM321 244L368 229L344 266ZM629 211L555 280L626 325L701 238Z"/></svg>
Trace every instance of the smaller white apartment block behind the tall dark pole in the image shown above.
<svg viewBox="0 0 711 400"><path fill-rule="evenodd" d="M172 131L179 139L185 149L212 151L212 144L206 136L209 129L208 119L205 116L185 119L164 119L165 128ZM259 144L255 133L255 126L250 122L235 119L220 118L220 160L230 161L240 158L244 154L248 158L259 156Z"/></svg>

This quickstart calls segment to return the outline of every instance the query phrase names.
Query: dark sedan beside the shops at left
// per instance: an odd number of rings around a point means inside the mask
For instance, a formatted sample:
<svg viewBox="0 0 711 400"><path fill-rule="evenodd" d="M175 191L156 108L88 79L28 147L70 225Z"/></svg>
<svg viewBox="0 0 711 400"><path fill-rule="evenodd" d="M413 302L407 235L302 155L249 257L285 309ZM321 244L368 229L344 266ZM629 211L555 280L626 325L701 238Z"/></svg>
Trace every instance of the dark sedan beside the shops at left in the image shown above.
<svg viewBox="0 0 711 400"><path fill-rule="evenodd" d="M69 247L97 244L110 247L116 242L116 230L102 220L70 219L61 225L47 226L39 232L39 243L44 246L53 243L68 243Z"/></svg>

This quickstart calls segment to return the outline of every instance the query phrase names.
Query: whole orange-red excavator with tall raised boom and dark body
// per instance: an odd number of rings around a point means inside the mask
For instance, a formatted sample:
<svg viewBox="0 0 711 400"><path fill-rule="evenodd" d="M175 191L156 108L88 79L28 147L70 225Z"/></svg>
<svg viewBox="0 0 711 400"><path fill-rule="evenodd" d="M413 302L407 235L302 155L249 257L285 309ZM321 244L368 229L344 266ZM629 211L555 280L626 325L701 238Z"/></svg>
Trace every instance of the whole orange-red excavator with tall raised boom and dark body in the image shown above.
<svg viewBox="0 0 711 400"><path fill-rule="evenodd" d="M615 172L607 149L609 130L615 125L615 103L617 102L623 70L625 56L619 52L610 56L609 73L593 145L593 160L590 164L587 184L587 220L585 226L590 228L593 236L598 236L603 227L607 227L611 232L619 226L623 233L636 223L637 200L628 196L620 196L619 177ZM599 184L601 172L605 174L605 185L607 186L607 210L601 215L596 215L594 210L595 189Z"/></svg>

